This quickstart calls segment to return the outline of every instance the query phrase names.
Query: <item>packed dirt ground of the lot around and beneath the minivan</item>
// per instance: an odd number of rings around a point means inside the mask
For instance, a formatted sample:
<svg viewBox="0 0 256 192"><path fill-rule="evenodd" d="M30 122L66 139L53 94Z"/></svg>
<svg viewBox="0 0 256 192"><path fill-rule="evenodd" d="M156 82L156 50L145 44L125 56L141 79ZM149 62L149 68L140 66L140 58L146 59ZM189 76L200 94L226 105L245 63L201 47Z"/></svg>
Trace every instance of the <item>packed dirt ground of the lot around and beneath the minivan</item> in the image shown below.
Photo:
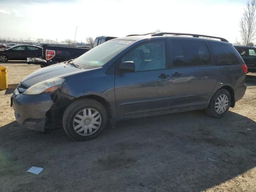
<svg viewBox="0 0 256 192"><path fill-rule="evenodd" d="M254 74L224 118L194 111L126 120L94 140L76 142L62 129L20 128L10 94L40 67L0 66L10 71L9 89L0 91L1 192L256 192ZM31 166L44 170L27 173Z"/></svg>

